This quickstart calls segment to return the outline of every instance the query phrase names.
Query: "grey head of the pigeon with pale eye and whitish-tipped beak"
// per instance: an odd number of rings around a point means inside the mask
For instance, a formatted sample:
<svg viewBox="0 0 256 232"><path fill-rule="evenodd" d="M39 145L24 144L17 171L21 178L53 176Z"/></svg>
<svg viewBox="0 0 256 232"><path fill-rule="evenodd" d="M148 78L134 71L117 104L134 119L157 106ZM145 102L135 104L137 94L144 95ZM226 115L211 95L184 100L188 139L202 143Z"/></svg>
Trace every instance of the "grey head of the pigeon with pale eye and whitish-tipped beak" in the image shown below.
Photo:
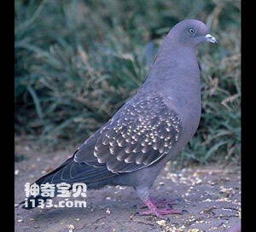
<svg viewBox="0 0 256 232"><path fill-rule="evenodd" d="M170 32L174 43L182 46L197 47L202 42L217 44L217 39L209 32L207 26L200 20L183 20L177 23Z"/></svg>

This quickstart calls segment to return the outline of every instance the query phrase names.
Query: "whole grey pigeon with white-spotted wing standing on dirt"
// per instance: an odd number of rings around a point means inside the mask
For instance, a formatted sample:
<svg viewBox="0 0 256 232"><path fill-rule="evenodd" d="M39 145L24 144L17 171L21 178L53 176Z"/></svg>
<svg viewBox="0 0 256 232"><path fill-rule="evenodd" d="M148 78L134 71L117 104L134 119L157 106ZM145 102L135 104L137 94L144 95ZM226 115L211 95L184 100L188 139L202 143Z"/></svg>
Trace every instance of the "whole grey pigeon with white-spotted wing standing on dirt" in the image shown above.
<svg viewBox="0 0 256 232"><path fill-rule="evenodd" d="M217 43L200 20L183 20L167 34L143 86L113 118L86 139L73 156L36 181L132 186L148 210L141 215L180 213L160 208L149 189L166 162L180 153L201 118L201 79L196 49ZM32 196L38 202L46 197ZM21 202L24 204L24 201ZM24 206L23 206L24 207ZM26 209L32 208L28 202Z"/></svg>

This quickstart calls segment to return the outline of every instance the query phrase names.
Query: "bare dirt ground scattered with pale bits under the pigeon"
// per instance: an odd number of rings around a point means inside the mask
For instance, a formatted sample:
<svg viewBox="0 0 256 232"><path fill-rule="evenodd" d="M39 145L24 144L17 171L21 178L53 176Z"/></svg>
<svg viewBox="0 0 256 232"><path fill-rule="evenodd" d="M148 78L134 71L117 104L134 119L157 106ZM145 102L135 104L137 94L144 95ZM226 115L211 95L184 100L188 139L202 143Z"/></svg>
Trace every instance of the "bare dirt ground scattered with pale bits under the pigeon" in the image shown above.
<svg viewBox="0 0 256 232"><path fill-rule="evenodd" d="M16 205L25 198L26 182L32 183L53 170L71 154L71 150L39 153L26 142L15 144L15 155L26 158L15 162L16 232L240 231L241 171L236 165L197 165L173 171L168 163L154 182L151 194L159 199L177 200L173 208L187 212L168 215L165 220L137 215L141 200L132 188L121 186L88 191L86 208L27 211Z"/></svg>

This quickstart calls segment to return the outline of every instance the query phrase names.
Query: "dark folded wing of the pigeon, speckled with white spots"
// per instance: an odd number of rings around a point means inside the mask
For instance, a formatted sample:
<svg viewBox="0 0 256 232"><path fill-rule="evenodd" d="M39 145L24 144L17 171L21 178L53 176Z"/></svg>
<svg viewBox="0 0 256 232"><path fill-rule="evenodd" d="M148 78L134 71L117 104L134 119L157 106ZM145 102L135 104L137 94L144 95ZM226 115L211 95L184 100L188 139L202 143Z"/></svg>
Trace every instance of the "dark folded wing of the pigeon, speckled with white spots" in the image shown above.
<svg viewBox="0 0 256 232"><path fill-rule="evenodd" d="M162 97L141 96L81 144L74 161L105 165L113 173L137 171L168 154L181 131L181 120Z"/></svg>

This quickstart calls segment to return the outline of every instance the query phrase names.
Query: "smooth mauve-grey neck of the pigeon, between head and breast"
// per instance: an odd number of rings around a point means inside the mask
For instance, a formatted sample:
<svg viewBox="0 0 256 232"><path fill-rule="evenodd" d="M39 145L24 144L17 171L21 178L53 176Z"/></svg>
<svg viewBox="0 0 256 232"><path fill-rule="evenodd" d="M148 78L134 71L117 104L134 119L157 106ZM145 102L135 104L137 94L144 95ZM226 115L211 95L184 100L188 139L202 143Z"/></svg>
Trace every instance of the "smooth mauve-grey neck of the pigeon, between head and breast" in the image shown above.
<svg viewBox="0 0 256 232"><path fill-rule="evenodd" d="M168 94L177 91L200 91L200 71L196 61L196 49L177 46L164 41L156 56L148 78L143 84L144 90L160 90Z"/></svg>

